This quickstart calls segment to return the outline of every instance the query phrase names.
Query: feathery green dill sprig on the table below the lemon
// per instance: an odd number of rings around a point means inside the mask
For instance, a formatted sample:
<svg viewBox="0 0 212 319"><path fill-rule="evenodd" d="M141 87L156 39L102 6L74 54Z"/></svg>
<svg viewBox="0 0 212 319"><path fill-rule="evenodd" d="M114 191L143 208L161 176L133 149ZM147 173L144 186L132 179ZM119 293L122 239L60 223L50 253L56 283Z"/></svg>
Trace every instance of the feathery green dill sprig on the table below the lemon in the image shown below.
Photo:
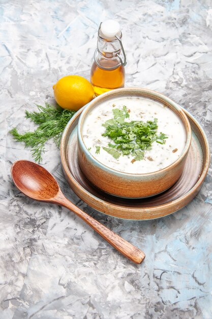
<svg viewBox="0 0 212 319"><path fill-rule="evenodd" d="M45 143L53 138L54 143L59 146L64 128L76 112L54 107L47 102L45 102L45 107L41 105L37 107L39 112L25 111L25 118L39 125L36 130L20 134L17 128L13 127L10 133L14 140L24 142L25 147L30 147L35 162L41 163Z"/></svg>

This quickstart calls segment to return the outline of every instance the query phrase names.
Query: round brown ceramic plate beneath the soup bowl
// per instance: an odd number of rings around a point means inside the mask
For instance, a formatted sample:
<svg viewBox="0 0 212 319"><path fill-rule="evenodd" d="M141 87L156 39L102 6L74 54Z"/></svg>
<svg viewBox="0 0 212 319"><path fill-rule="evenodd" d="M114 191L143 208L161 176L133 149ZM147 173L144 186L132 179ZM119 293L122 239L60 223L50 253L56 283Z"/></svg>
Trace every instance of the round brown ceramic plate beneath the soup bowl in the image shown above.
<svg viewBox="0 0 212 319"><path fill-rule="evenodd" d="M73 191L89 206L104 214L131 220L155 219L184 207L198 193L209 167L209 145L199 123L186 110L192 128L192 143L183 174L166 192L146 199L108 195L82 174L77 160L77 124L80 109L67 124L60 146L62 167Z"/></svg>

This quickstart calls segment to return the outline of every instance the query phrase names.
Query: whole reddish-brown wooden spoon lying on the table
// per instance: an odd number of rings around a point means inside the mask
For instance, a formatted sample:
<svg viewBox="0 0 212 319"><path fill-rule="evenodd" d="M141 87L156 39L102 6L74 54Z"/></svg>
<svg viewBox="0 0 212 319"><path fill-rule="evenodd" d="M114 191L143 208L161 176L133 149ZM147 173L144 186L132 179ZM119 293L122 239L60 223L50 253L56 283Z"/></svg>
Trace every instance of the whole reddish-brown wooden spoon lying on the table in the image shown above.
<svg viewBox="0 0 212 319"><path fill-rule="evenodd" d="M16 187L26 196L38 201L62 205L96 230L110 245L135 263L141 263L145 254L122 237L87 215L68 200L59 188L56 179L42 166L25 160L16 161L11 167Z"/></svg>

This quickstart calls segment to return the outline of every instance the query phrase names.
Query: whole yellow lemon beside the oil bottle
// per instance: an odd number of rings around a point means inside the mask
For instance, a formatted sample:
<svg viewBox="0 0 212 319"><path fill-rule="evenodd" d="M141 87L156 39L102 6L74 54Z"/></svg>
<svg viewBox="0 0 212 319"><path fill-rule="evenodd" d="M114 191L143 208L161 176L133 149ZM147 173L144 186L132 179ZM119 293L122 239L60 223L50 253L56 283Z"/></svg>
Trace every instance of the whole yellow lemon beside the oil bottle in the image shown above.
<svg viewBox="0 0 212 319"><path fill-rule="evenodd" d="M84 77L68 75L53 85L54 97L60 107L78 111L94 98L94 88Z"/></svg>

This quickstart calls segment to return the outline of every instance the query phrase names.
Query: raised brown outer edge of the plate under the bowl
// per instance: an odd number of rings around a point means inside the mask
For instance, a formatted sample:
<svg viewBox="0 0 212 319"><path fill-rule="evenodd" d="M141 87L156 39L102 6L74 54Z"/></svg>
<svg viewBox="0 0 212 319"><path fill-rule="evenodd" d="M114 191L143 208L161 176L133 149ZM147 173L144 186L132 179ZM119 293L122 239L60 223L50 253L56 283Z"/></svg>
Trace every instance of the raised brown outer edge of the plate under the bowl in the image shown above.
<svg viewBox="0 0 212 319"><path fill-rule="evenodd" d="M160 217L167 216L169 214L172 214L173 212L183 208L186 206L199 192L202 183L205 179L205 176L207 174L208 168L209 168L209 162L210 162L210 150L209 150L209 144L207 141L207 137L205 135L204 130L202 129L201 125L197 122L197 120L184 108L183 111L186 113L190 121L193 121L196 127L198 128L199 134L203 138L204 141L204 148L201 145L202 153L204 157L205 166L204 169L199 176L199 179L197 183L194 185L194 187L185 195L182 196L172 202L162 204L159 206L154 207L145 207L145 208L130 208L115 204L107 203L100 198L90 194L88 191L83 189L83 187L73 178L71 175L68 164L66 161L66 146L69 139L69 130L72 126L72 123L75 121L75 119L80 116L84 108L80 109L74 117L69 121L67 124L61 144L60 144L60 157L62 162L62 168L64 175L72 188L72 190L90 207L97 209L100 212L103 212L106 215L122 218L122 219L129 219L129 220L148 220L148 219L156 219ZM199 137L198 137L199 139Z"/></svg>

